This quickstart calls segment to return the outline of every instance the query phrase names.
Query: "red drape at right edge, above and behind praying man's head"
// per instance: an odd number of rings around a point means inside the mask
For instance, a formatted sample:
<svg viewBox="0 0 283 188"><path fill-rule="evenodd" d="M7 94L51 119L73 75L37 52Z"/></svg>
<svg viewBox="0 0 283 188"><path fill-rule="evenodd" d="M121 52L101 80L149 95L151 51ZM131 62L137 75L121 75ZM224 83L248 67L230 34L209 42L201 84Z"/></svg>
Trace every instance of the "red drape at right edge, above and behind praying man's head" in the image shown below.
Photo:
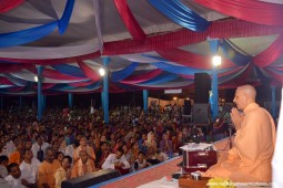
<svg viewBox="0 0 283 188"><path fill-rule="evenodd" d="M264 67L272 64L283 54L283 34L281 34L265 51L253 58L256 66Z"/></svg>

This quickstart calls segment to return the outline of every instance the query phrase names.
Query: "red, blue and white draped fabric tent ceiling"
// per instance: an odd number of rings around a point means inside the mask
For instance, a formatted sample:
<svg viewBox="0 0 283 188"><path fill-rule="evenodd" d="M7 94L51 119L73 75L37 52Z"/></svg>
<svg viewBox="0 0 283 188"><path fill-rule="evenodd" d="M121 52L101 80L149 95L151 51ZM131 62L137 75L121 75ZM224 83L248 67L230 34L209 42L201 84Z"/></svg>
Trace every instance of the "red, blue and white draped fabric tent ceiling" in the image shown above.
<svg viewBox="0 0 283 188"><path fill-rule="evenodd" d="M110 92L193 86L211 74L210 41L220 40L219 84L281 85L281 0L0 1L0 93Z"/></svg>

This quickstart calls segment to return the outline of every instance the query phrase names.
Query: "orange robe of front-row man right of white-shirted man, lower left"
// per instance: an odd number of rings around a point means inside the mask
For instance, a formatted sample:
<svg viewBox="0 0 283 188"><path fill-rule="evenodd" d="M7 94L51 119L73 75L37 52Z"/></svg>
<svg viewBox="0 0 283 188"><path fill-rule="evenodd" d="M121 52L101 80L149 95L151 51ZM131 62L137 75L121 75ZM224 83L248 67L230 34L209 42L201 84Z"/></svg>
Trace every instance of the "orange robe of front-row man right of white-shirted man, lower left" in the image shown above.
<svg viewBox="0 0 283 188"><path fill-rule="evenodd" d="M57 169L61 167L61 164L58 160L53 160L52 164L47 163L46 160L39 166L38 173L38 187L42 188L42 184L48 184L49 187L55 186L54 174Z"/></svg>

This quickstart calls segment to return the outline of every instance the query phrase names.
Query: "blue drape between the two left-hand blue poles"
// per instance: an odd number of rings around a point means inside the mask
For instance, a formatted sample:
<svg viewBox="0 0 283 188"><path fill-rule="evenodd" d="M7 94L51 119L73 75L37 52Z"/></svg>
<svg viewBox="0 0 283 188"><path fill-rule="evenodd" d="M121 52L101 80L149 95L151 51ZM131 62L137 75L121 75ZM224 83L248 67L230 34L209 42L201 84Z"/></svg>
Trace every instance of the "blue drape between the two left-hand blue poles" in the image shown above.
<svg viewBox="0 0 283 188"><path fill-rule="evenodd" d="M52 65L52 67L63 74L72 75L75 77L88 79L85 74L83 73L83 71L78 66L72 66L68 64L58 64L58 65Z"/></svg>

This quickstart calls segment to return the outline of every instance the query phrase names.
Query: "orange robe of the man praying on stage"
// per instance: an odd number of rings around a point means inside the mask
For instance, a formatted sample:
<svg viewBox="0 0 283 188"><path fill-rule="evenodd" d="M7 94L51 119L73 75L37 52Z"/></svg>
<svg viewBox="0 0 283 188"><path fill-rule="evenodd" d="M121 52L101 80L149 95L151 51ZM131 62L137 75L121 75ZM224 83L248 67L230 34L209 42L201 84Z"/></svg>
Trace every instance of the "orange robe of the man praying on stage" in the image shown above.
<svg viewBox="0 0 283 188"><path fill-rule="evenodd" d="M270 182L275 145L275 125L271 115L257 104L244 108L244 119L236 132L234 147L204 174L229 178L234 182Z"/></svg>

